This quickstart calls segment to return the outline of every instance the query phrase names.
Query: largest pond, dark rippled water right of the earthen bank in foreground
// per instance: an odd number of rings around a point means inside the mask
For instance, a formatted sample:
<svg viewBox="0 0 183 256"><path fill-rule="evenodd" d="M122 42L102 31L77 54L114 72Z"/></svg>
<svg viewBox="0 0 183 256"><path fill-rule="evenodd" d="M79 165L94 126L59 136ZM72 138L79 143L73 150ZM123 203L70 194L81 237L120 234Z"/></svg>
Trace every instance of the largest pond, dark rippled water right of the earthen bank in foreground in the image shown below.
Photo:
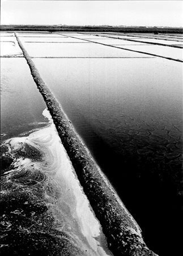
<svg viewBox="0 0 183 256"><path fill-rule="evenodd" d="M33 59L159 255L181 255L182 65Z"/></svg>

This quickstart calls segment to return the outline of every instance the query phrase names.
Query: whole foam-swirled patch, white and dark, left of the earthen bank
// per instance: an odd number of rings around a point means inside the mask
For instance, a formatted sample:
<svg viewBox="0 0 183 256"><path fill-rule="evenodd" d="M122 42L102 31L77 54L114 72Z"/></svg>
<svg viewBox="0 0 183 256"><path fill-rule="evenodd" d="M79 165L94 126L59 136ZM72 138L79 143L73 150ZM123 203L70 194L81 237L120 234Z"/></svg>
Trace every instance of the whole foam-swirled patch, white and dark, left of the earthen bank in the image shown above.
<svg viewBox="0 0 183 256"><path fill-rule="evenodd" d="M112 255L50 124L2 144L2 255Z"/></svg>

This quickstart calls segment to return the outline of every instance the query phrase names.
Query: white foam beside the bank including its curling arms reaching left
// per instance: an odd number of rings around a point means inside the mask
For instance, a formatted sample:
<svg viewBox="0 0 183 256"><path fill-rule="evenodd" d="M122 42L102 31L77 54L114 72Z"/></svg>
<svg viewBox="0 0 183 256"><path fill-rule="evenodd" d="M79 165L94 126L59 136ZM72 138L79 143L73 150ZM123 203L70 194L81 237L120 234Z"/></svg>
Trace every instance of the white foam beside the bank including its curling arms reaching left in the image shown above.
<svg viewBox="0 0 183 256"><path fill-rule="evenodd" d="M24 143L39 150L42 160L18 158L15 168L35 168L41 170L52 183L53 190L58 191L56 204L45 192L49 211L54 217L55 228L73 238L75 245L82 249L83 255L112 255L107 248L107 242L101 231L101 225L83 192L73 165L67 155L56 127L48 110L42 113L48 118L50 125L41 128L28 137L8 139L6 144L9 152L14 154ZM80 255L78 255L80 256Z"/></svg>

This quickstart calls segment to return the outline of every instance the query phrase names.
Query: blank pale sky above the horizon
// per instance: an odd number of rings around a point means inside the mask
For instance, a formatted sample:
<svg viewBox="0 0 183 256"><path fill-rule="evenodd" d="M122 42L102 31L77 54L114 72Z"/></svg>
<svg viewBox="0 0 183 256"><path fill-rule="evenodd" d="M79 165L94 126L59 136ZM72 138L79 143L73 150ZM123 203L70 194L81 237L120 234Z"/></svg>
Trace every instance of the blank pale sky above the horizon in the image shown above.
<svg viewBox="0 0 183 256"><path fill-rule="evenodd" d="M2 24L183 27L183 1L1 0Z"/></svg>

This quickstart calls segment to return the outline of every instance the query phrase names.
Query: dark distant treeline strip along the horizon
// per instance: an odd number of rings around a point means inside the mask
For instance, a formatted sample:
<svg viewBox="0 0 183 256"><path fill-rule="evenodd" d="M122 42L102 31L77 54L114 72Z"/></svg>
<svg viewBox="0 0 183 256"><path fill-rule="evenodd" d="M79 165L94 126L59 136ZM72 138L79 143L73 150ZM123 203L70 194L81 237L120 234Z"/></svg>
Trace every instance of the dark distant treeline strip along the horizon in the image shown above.
<svg viewBox="0 0 183 256"><path fill-rule="evenodd" d="M34 25L2 25L1 31L77 31L77 32L130 32L130 33L176 33L182 34L180 27L123 27L123 26L34 26Z"/></svg>

